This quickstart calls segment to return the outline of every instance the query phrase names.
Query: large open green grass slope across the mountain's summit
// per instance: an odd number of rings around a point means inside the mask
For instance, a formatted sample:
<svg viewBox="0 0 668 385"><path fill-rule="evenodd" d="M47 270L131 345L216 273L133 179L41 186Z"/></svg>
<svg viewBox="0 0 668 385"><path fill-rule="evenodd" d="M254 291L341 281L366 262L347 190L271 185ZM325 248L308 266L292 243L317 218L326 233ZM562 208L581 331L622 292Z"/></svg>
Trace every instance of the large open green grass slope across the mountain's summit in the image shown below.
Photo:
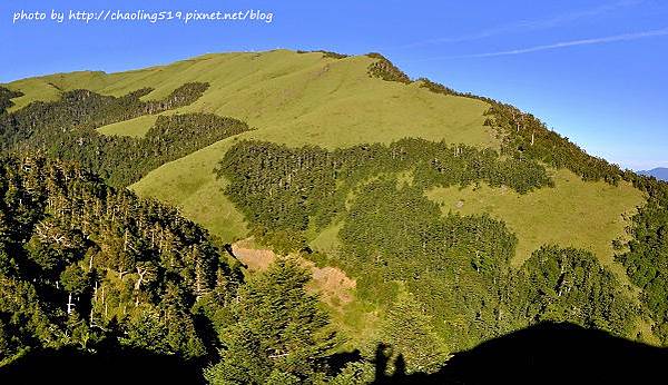
<svg viewBox="0 0 668 385"><path fill-rule="evenodd" d="M441 98L418 85L404 87L370 78L374 59L341 60L322 53L272 51L267 53L209 55L166 67L104 75L76 72L12 82L23 97L13 109L33 100L57 97L53 89L86 88L121 96L141 87L155 90L145 99L159 99L187 81L212 85L197 102L177 110L232 116L265 130L259 137L291 145L347 146L390 141L406 135L453 142L495 147L482 128L483 102ZM379 103L382 100L382 103ZM155 117L154 117L155 118ZM140 135L153 124L147 117L102 128L108 134ZM136 128L134 131L131 128ZM341 129L345 129L342 136ZM120 130L120 132L119 132Z"/></svg>

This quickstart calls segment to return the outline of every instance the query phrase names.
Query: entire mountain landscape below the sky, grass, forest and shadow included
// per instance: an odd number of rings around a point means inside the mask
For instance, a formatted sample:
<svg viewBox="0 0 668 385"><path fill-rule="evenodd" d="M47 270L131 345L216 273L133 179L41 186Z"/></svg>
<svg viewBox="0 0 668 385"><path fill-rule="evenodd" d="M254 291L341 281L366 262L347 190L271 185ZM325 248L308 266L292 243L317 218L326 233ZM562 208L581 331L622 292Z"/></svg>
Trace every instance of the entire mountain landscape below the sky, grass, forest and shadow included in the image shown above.
<svg viewBox="0 0 668 385"><path fill-rule="evenodd" d="M0 85L2 384L638 383L667 282L667 182L380 53Z"/></svg>

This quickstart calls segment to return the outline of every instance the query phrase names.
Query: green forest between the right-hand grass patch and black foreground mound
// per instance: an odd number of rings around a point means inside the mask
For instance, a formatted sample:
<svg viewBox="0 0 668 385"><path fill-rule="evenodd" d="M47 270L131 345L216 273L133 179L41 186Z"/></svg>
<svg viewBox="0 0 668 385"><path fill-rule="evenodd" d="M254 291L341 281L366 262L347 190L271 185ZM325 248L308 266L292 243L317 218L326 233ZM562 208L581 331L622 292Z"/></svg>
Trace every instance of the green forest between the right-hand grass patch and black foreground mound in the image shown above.
<svg viewBox="0 0 668 385"><path fill-rule="evenodd" d="M452 349L541 320L632 336L638 309L590 253L544 247L515 270L517 239L488 216L442 217L421 190L373 181L352 204L336 263L357 293L392 304L397 282L424 304Z"/></svg>

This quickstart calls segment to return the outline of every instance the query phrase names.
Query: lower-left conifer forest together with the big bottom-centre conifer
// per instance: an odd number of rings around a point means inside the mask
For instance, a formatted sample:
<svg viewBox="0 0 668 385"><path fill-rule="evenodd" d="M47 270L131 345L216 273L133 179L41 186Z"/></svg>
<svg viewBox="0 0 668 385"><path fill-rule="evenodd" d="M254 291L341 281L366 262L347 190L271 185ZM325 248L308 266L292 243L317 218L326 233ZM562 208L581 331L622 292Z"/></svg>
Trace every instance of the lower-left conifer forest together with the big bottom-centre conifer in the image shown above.
<svg viewBox="0 0 668 385"><path fill-rule="evenodd" d="M41 156L0 158L0 378L32 352L116 345L209 367L213 383L336 375L340 340L296 263L246 283L175 209Z"/></svg>

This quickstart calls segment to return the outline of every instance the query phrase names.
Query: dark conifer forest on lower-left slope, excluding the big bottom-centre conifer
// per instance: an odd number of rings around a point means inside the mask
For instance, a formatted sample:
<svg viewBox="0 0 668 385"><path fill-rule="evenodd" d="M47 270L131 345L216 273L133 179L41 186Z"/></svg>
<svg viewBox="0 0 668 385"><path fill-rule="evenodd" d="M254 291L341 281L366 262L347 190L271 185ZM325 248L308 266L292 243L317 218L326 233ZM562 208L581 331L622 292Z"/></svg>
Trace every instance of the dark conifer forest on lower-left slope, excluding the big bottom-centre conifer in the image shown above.
<svg viewBox="0 0 668 385"><path fill-rule="evenodd" d="M193 305L238 280L175 209L71 164L0 159L0 361L106 338L204 356Z"/></svg>

